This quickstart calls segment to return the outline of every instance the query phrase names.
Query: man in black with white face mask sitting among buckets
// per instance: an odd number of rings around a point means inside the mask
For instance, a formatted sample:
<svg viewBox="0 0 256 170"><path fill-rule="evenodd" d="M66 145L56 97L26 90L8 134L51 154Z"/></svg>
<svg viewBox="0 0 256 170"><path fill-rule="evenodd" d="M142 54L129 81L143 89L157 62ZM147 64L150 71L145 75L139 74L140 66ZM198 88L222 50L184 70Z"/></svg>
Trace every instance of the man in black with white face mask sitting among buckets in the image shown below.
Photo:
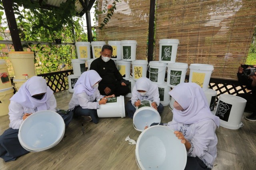
<svg viewBox="0 0 256 170"><path fill-rule="evenodd" d="M102 78L98 87L100 94L125 96L130 90L124 82L121 82L124 79L116 68L115 62L110 59L112 52L113 48L110 45L103 45L100 57L92 61L90 70L95 70Z"/></svg>

